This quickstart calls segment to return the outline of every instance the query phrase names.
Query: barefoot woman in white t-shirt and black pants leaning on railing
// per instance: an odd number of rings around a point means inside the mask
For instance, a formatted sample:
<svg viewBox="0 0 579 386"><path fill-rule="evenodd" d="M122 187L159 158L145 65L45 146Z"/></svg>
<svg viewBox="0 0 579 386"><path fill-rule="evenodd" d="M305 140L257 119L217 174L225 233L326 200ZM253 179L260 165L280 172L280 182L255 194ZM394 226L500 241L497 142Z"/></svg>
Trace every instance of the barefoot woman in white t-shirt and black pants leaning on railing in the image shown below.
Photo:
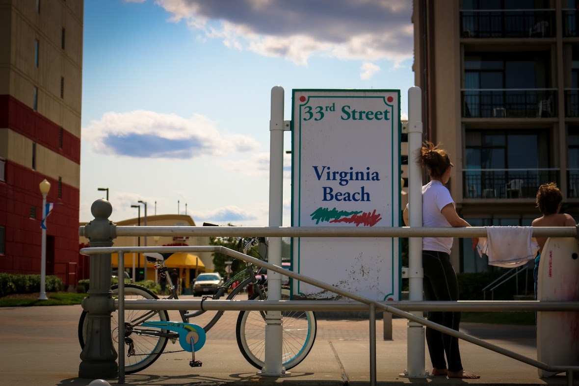
<svg viewBox="0 0 579 386"><path fill-rule="evenodd" d="M423 143L417 163L426 167L430 182L422 187L422 223L424 227L466 227L468 222L456 212L455 201L446 183L454 166L448 153L430 141ZM404 209L404 222L408 226L409 206ZM424 269L424 298L432 300L459 300L459 284L455 269L450 263L452 237L423 237L422 266ZM472 238L472 248L478 238ZM459 330L460 312L428 311L428 320ZM426 343L433 364L432 375L449 378L480 378L463 369L460 359L459 339L433 328L426 328ZM446 361L445 361L446 353ZM448 368L446 362L448 361Z"/></svg>

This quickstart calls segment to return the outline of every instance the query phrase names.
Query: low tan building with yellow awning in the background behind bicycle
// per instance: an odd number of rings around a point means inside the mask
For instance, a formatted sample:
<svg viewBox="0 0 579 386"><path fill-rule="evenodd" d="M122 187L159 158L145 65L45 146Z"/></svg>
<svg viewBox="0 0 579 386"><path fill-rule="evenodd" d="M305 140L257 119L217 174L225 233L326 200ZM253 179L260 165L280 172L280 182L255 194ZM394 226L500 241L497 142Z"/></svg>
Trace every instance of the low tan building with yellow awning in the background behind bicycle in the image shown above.
<svg viewBox="0 0 579 386"><path fill-rule="evenodd" d="M145 225L144 218L133 218L122 220L115 223L118 226L138 226ZM80 223L80 226L86 225L86 223ZM147 226L195 226L195 221L189 215L154 215L147 216ZM87 246L89 240L83 236L79 238L79 244L82 246ZM169 237L169 236L153 236L153 237L128 237L120 236L115 238L115 247L135 247L145 245L149 247L155 246L204 246L209 245L209 237ZM138 256L138 254L127 253L124 256L124 266L125 270L129 273L131 278L135 278L135 281L144 280L145 274L145 259L144 256ZM134 274L133 274L133 261L134 261ZM83 258L83 272L88 273L89 265L88 256ZM201 272L212 272L214 271L213 257L211 252L201 252L201 253L174 253L166 260L167 267L170 269L177 269L179 277L185 280L186 288L189 288L189 284L197 274ZM155 281L155 269L149 263L146 264L146 278L148 280ZM112 267L115 269L118 267L118 257L116 253L112 256Z"/></svg>

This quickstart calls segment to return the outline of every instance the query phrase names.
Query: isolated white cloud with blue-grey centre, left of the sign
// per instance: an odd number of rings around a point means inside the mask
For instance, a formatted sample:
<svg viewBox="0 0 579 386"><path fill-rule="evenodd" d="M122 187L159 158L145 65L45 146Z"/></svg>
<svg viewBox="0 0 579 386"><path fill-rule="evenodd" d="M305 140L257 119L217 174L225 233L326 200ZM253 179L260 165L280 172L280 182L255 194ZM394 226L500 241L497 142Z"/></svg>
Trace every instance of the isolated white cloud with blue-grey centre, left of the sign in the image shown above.
<svg viewBox="0 0 579 386"><path fill-rule="evenodd" d="M137 158L190 159L259 148L247 135L224 138L202 115L186 119L142 110L107 112L83 128L82 135L96 153Z"/></svg>

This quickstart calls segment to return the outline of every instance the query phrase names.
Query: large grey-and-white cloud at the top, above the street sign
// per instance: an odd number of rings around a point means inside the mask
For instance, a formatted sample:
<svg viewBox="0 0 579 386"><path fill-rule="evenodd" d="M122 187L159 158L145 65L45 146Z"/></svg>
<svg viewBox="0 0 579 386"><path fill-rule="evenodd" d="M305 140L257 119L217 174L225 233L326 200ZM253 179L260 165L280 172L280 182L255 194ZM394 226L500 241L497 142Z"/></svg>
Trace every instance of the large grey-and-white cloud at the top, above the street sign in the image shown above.
<svg viewBox="0 0 579 386"><path fill-rule="evenodd" d="M227 47L306 65L314 56L342 60L412 58L408 0L156 0L189 28Z"/></svg>

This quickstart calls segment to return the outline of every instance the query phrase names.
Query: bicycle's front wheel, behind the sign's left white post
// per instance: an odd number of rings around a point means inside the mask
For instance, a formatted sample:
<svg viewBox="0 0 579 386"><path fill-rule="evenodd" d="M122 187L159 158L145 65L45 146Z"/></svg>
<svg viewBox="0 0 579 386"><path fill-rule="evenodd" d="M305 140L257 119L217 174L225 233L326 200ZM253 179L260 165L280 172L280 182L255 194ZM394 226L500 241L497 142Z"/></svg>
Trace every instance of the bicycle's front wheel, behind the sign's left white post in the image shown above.
<svg viewBox="0 0 579 386"><path fill-rule="evenodd" d="M251 297L256 299L259 294ZM281 289L281 299L290 299L290 290ZM241 354L252 366L265 365L265 326L260 311L241 311L237 317L237 345ZM282 364L286 370L297 366L306 358L316 340L316 315L312 311L282 311Z"/></svg>

